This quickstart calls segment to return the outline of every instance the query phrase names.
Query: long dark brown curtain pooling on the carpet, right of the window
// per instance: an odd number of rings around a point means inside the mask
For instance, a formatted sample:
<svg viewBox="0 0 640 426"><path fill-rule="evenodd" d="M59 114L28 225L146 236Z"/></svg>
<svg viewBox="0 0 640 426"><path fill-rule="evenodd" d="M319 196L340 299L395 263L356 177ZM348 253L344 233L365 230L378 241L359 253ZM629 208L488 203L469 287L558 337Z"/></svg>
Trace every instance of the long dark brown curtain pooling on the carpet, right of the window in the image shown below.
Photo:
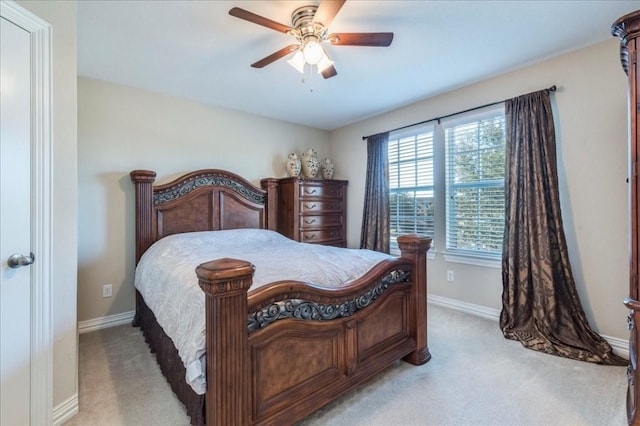
<svg viewBox="0 0 640 426"><path fill-rule="evenodd" d="M591 330L578 298L562 226L549 92L506 102L506 228L500 328L525 347L626 365Z"/></svg>

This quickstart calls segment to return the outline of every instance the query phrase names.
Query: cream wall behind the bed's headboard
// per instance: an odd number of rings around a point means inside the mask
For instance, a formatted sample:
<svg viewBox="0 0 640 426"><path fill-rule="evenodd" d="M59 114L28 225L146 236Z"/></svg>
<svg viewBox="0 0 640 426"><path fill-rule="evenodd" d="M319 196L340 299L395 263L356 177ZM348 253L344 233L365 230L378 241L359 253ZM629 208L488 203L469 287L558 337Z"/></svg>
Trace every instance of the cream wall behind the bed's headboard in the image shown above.
<svg viewBox="0 0 640 426"><path fill-rule="evenodd" d="M259 186L287 175L288 153L312 147L323 158L328 145L323 130L78 78L78 320L135 308L131 170L162 182L220 168Z"/></svg>

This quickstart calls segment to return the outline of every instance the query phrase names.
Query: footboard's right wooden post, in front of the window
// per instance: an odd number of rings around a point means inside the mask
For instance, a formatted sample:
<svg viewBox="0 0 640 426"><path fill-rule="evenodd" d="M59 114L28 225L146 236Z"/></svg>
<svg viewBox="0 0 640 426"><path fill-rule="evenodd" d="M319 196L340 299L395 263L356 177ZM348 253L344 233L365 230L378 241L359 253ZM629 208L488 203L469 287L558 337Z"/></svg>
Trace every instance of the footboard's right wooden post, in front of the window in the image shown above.
<svg viewBox="0 0 640 426"><path fill-rule="evenodd" d="M422 365L431 359L427 342L427 251L431 247L431 238L417 234L401 235L398 237L398 247L401 257L413 262L409 321L417 346L403 359L414 365Z"/></svg>

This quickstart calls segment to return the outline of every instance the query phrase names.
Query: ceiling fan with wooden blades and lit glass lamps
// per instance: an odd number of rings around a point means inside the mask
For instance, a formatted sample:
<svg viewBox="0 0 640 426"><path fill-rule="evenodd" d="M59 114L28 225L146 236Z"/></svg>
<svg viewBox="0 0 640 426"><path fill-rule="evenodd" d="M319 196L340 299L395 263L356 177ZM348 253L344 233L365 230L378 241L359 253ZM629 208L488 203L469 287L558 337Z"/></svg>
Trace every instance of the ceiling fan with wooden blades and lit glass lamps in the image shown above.
<svg viewBox="0 0 640 426"><path fill-rule="evenodd" d="M337 75L333 61L329 59L321 43L334 46L376 46L387 47L393 41L393 33L329 33L329 24L342 8L346 0L322 0L319 5L299 7L291 14L291 26L272 21L248 10L234 7L229 10L231 16L271 28L296 38L290 44L275 53L251 64L254 68L265 67L293 53L287 62L301 73L306 64L316 65L324 78Z"/></svg>

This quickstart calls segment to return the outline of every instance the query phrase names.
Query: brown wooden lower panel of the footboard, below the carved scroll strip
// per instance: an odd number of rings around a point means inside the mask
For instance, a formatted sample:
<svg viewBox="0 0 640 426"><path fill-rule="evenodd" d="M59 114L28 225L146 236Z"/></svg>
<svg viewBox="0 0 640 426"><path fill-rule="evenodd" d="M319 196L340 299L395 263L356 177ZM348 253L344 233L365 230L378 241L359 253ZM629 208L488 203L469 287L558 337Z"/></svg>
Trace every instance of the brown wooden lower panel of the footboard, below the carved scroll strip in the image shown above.
<svg viewBox="0 0 640 426"><path fill-rule="evenodd" d="M396 285L353 316L286 319L252 333L253 419L302 418L413 351L409 305L410 286Z"/></svg>

